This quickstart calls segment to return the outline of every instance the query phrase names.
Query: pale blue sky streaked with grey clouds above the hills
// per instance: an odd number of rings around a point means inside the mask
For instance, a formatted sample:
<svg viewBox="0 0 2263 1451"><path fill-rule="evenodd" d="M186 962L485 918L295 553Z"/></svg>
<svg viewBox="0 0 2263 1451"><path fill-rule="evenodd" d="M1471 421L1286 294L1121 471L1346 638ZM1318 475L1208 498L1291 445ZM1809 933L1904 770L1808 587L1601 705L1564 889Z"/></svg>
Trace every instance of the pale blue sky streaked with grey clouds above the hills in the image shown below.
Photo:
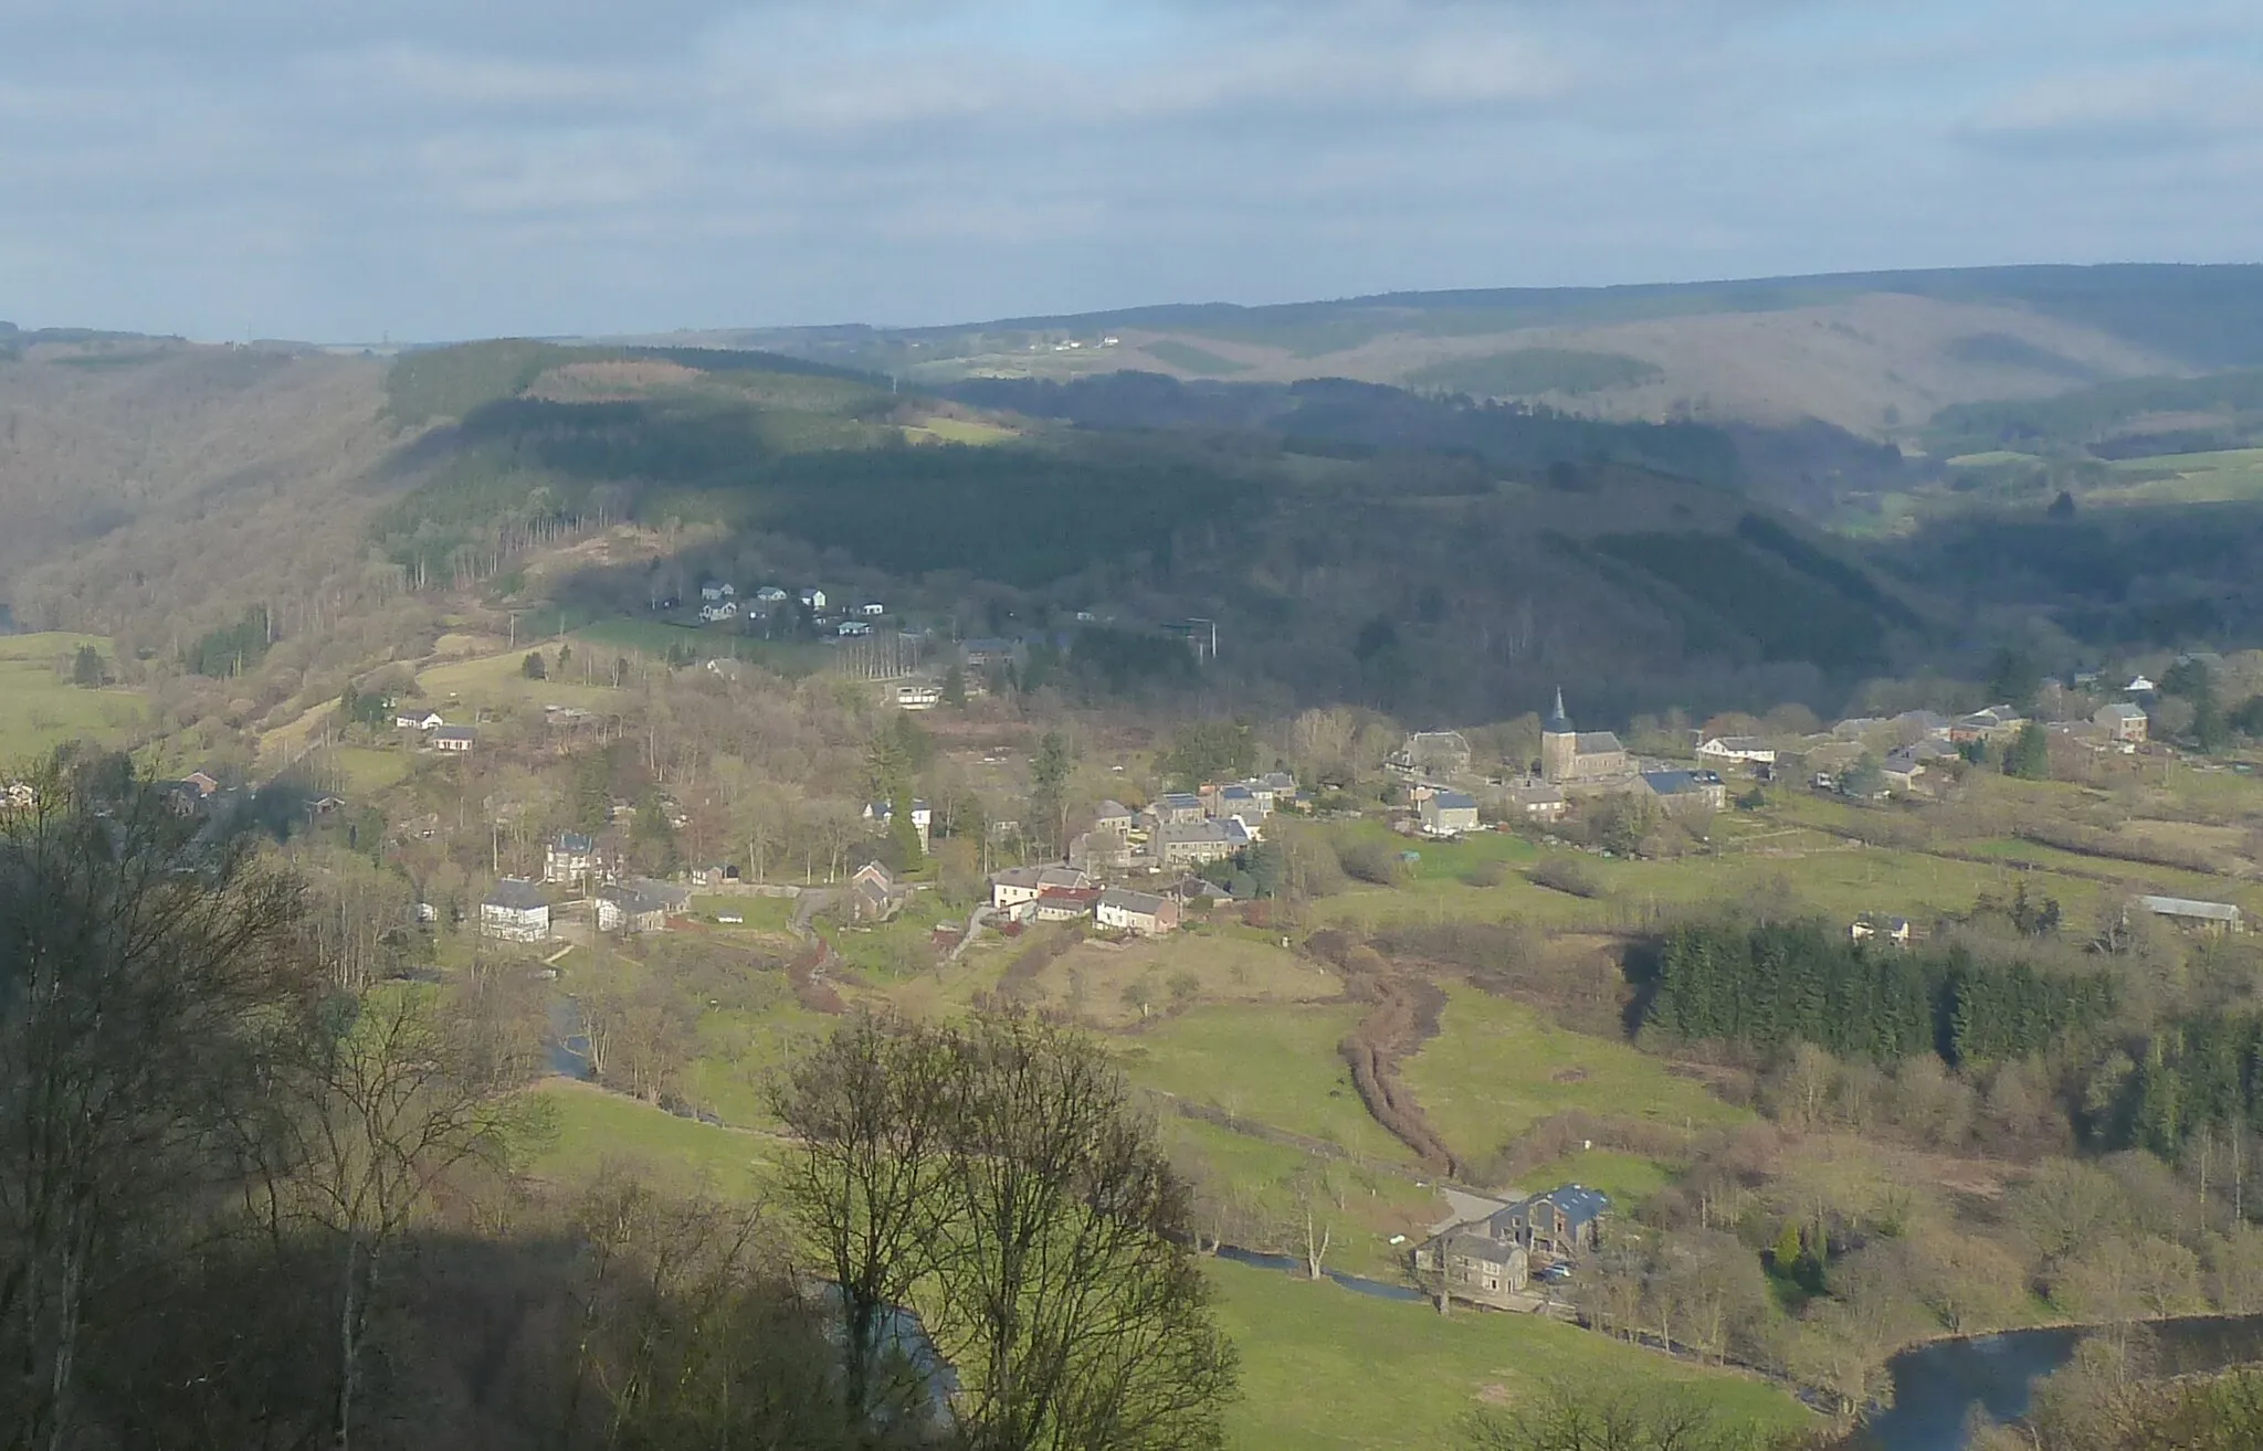
<svg viewBox="0 0 2263 1451"><path fill-rule="evenodd" d="M0 319L948 323L2263 260L2254 0L0 0Z"/></svg>

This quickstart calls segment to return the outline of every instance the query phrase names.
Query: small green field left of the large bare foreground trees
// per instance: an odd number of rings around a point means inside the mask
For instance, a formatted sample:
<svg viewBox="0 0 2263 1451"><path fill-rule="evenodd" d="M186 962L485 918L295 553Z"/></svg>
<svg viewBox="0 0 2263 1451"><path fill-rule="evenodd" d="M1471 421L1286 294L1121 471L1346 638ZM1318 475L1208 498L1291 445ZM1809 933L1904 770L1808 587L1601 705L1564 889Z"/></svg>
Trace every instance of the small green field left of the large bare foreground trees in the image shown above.
<svg viewBox="0 0 2263 1451"><path fill-rule="evenodd" d="M634 1098L563 1078L545 1083L541 1101L554 1135L527 1164L557 1182L588 1182L613 1164L679 1189L708 1187L749 1196L765 1166L765 1141L742 1130L677 1119Z"/></svg>

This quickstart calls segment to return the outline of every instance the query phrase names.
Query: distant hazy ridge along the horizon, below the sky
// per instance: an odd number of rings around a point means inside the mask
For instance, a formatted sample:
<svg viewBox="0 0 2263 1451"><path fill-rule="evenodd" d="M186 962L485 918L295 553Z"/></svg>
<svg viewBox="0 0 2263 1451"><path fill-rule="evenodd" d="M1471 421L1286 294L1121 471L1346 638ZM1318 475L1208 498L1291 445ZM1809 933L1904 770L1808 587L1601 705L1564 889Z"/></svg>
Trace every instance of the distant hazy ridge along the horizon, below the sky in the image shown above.
<svg viewBox="0 0 2263 1451"><path fill-rule="evenodd" d="M1399 292L1129 307L948 328L772 328L681 341L898 373L1353 377L1598 418L1822 418L1896 436L1978 398L2263 364L2263 269L1976 267L1736 283Z"/></svg>

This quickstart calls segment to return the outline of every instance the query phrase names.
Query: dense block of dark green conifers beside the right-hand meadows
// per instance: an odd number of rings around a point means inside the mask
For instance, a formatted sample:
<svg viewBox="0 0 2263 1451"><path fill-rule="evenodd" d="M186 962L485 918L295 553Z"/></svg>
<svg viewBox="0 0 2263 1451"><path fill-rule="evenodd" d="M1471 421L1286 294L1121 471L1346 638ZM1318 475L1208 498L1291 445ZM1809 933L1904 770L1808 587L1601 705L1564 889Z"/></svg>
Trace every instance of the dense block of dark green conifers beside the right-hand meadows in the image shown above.
<svg viewBox="0 0 2263 1451"><path fill-rule="evenodd" d="M2105 974L1989 963L1964 947L1872 947L1819 920L1675 927L1652 988L1643 1024L1684 1042L1810 1042L1842 1058L1951 1065L2041 1053L2105 1026L2116 1003Z"/></svg>

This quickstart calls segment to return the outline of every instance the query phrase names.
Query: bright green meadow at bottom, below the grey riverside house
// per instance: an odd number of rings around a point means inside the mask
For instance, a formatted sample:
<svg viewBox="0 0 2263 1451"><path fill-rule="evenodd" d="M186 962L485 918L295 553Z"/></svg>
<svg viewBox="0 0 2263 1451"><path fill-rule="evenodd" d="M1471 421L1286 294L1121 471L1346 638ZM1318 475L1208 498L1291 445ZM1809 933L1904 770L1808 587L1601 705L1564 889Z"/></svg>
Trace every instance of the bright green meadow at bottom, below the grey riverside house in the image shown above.
<svg viewBox="0 0 2263 1451"><path fill-rule="evenodd" d="M1724 1417L1813 1426L1783 1390L1668 1361L1539 1315L1439 1315L1279 1270L1211 1261L1220 1324L1242 1352L1227 1444L1247 1451L1399 1451L1460 1444L1482 1406L1550 1385L1688 1385Z"/></svg>

